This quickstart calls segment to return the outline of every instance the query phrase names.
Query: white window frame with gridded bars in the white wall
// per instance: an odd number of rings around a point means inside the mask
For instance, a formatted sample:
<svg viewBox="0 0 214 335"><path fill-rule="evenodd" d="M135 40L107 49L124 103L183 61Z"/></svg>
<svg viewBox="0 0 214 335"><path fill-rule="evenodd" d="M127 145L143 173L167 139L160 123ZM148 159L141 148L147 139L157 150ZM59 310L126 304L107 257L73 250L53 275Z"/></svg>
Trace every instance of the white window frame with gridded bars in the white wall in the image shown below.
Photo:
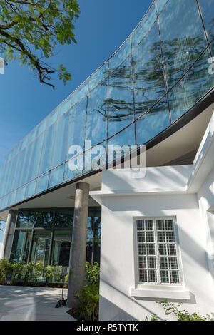
<svg viewBox="0 0 214 335"><path fill-rule="evenodd" d="M138 220L153 220L154 225L154 244L156 248L156 271L157 274L157 282L141 282L139 279L139 265L138 265L138 230L137 230L137 221ZM175 248L177 253L177 261L178 261L178 275L179 275L179 283L161 283L158 279L161 278L161 267L160 267L160 260L159 260L159 252L158 252L158 237L157 237L157 229L156 229L156 220L173 220L173 230L175 234ZM134 233L134 268L135 268L135 278L136 278L136 285L138 288L146 288L146 287L183 287L183 267L181 261L181 253L180 253L180 243L179 243L179 235L178 235L178 224L177 224L177 217L172 216L145 216L145 217L133 217L133 233ZM152 255L151 255L152 257ZM168 256L167 256L168 258ZM158 261L158 262L157 262ZM147 268L148 269L148 268ZM170 269L166 269L169 271Z"/></svg>

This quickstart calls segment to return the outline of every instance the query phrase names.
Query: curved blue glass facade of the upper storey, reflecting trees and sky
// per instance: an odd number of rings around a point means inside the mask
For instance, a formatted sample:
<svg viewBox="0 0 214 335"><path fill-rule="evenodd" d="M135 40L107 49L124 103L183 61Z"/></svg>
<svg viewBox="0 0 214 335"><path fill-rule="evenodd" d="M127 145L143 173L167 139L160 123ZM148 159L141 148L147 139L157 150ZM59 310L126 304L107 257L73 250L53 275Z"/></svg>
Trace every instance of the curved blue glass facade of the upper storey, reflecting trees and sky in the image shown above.
<svg viewBox="0 0 214 335"><path fill-rule="evenodd" d="M71 145L144 145L214 86L214 0L156 0L121 48L6 156L0 210L84 175Z"/></svg>

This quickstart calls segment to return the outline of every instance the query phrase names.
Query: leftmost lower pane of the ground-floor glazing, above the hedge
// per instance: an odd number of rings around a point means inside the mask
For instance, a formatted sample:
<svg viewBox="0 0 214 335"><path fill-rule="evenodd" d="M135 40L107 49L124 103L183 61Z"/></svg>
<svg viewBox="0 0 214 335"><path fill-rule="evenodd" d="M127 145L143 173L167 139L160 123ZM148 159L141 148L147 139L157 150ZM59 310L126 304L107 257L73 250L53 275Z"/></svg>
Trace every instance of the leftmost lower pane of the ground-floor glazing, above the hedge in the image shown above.
<svg viewBox="0 0 214 335"><path fill-rule="evenodd" d="M10 262L27 262L31 243L30 230L16 230L13 247L11 249Z"/></svg>

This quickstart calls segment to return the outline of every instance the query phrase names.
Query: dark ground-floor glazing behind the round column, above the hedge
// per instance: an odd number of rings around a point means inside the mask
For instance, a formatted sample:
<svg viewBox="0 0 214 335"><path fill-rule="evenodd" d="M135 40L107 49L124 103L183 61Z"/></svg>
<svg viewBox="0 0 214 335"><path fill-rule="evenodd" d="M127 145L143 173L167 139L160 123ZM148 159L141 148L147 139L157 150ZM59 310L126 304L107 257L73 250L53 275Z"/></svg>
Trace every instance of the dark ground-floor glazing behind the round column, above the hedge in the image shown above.
<svg viewBox="0 0 214 335"><path fill-rule="evenodd" d="M30 257L34 262L68 266L72 227L73 208L19 211L11 261L27 262ZM100 247L101 208L89 207L86 260L99 262Z"/></svg>

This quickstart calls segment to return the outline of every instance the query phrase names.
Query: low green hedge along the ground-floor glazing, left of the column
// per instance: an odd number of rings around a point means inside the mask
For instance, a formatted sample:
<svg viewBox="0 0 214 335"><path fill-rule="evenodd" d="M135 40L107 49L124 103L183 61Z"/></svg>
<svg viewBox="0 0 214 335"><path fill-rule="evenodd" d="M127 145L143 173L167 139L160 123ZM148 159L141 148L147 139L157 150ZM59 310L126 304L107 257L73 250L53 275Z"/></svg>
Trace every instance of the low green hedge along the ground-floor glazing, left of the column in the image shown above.
<svg viewBox="0 0 214 335"><path fill-rule="evenodd" d="M8 280L6 280L8 278ZM68 282L68 277L66 278ZM40 262L25 262L9 263L8 259L0 261L0 284L5 284L6 281L11 284L23 285L39 285L50 287L53 284L61 284L61 267ZM67 283L66 282L66 283Z"/></svg>

